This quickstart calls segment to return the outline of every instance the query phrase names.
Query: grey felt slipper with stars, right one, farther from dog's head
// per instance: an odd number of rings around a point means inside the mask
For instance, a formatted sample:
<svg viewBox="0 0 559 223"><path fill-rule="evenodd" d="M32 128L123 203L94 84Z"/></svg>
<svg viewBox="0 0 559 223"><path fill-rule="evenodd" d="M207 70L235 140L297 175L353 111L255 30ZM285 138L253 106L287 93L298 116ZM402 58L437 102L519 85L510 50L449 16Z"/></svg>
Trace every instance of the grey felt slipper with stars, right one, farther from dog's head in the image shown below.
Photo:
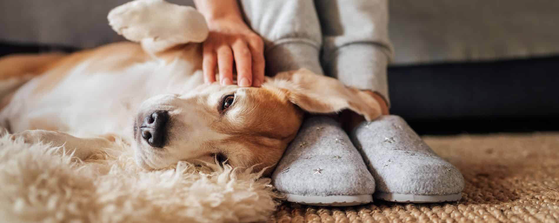
<svg viewBox="0 0 559 223"><path fill-rule="evenodd" d="M464 178L396 115L362 123L352 140L377 183L375 197L395 202L457 201Z"/></svg>

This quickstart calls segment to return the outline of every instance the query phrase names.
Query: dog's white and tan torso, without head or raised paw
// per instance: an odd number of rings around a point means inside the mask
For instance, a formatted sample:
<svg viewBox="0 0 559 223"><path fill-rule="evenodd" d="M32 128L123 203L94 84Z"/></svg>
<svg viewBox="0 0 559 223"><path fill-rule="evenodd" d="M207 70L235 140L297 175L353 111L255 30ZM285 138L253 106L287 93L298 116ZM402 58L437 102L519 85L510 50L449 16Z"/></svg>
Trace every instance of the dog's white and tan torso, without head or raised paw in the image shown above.
<svg viewBox="0 0 559 223"><path fill-rule="evenodd" d="M199 58L184 58L198 55L197 46L181 50L172 62L150 59L140 45L131 42L61 55L13 94L2 111L3 121L8 122L4 125L11 132L46 129L77 135L130 130L131 119L125 117L134 114L144 100L203 84ZM28 59L16 66L34 60ZM75 132L80 130L95 132Z"/></svg>

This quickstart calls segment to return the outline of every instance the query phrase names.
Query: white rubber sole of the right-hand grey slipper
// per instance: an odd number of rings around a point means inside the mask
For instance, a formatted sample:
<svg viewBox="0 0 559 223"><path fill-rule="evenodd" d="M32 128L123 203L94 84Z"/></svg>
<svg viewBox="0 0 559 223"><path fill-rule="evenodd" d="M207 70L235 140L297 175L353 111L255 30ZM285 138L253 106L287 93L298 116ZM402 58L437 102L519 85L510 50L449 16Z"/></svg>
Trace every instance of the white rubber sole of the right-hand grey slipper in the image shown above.
<svg viewBox="0 0 559 223"><path fill-rule="evenodd" d="M376 192L373 196L380 200L400 203L438 203L458 201L462 198L462 193L455 193L453 195L405 195L401 193Z"/></svg>

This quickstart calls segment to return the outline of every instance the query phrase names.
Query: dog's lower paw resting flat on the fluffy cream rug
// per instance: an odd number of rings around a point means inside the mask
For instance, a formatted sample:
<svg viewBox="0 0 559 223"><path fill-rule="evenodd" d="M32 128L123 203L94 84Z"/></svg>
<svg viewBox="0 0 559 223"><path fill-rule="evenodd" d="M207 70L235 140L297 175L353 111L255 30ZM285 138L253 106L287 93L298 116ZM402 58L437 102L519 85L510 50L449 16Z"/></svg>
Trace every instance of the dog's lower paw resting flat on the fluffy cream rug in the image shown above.
<svg viewBox="0 0 559 223"><path fill-rule="evenodd" d="M46 143L53 146L62 146L71 135L49 130L25 130L11 135L12 140L23 140L24 143Z"/></svg>

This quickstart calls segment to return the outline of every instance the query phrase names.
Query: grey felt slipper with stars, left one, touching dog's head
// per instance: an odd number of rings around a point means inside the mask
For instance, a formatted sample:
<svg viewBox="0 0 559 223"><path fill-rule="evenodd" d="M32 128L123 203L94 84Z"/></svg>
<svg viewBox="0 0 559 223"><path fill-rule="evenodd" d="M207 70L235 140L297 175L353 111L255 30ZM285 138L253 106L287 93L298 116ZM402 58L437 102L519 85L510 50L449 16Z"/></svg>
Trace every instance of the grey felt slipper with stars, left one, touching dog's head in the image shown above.
<svg viewBox="0 0 559 223"><path fill-rule="evenodd" d="M359 205L372 202L375 192L375 180L348 135L323 116L305 120L272 181L287 201L309 205Z"/></svg>

